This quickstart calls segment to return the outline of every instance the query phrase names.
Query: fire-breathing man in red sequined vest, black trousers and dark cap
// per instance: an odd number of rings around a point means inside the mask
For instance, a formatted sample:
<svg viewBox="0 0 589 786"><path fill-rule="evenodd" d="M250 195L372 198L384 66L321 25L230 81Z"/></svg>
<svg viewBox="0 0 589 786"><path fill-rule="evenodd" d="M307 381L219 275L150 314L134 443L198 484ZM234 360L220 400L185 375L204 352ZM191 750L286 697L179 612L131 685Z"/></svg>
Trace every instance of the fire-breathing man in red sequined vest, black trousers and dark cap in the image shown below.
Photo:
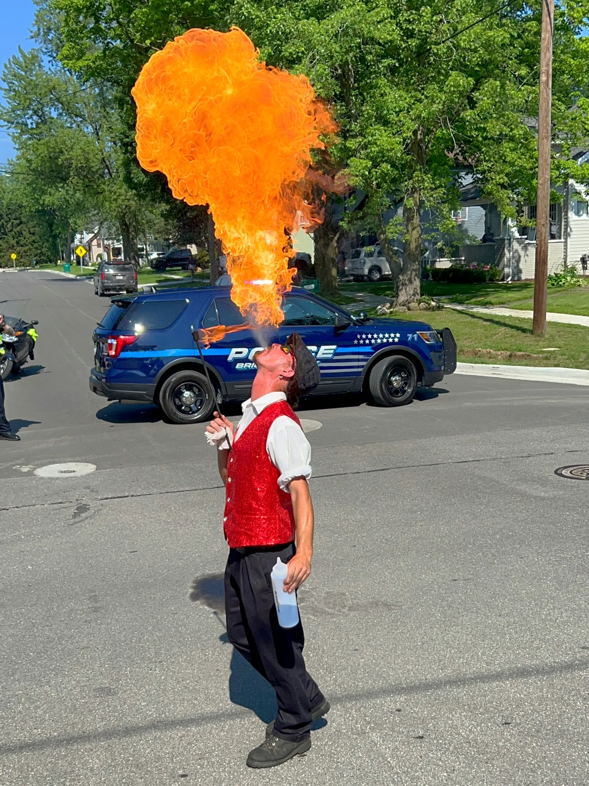
<svg viewBox="0 0 589 786"><path fill-rule="evenodd" d="M295 592L311 572L313 503L311 446L291 409L319 384L315 358L293 333L255 355L251 399L233 424L214 413L207 439L218 445L225 484L223 528L229 542L225 614L229 641L276 691L278 712L247 765L273 767L311 747L313 721L330 708L305 668L302 623L278 624L270 573L288 564L284 589Z"/></svg>

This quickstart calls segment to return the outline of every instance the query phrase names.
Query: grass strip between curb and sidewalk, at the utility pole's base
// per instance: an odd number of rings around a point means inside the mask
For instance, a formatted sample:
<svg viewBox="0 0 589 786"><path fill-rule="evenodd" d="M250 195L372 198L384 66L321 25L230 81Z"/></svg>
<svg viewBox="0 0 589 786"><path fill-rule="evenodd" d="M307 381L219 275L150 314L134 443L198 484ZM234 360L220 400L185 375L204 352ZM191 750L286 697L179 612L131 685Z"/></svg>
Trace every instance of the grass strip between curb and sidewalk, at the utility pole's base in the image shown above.
<svg viewBox="0 0 589 786"><path fill-rule="evenodd" d="M375 310L369 311L372 316ZM589 369L589 328L549 322L546 336L532 336L532 320L499 317L466 311L423 311L395 314L395 319L419 319L436 329L450 328L458 346L459 361L501 365L556 365ZM558 347L558 351L543 351ZM521 352L531 357L477 357L475 350Z"/></svg>

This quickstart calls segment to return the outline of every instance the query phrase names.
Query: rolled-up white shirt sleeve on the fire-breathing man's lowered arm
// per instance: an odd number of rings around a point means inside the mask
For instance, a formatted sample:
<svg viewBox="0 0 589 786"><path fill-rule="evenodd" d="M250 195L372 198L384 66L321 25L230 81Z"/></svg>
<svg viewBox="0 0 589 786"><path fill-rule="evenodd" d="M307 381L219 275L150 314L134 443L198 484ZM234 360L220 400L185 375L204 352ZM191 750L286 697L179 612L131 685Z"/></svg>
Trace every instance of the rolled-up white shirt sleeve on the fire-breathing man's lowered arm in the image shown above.
<svg viewBox="0 0 589 786"><path fill-rule="evenodd" d="M280 415L270 426L266 452L280 472L278 485L283 491L294 478L311 477L311 446L291 417Z"/></svg>

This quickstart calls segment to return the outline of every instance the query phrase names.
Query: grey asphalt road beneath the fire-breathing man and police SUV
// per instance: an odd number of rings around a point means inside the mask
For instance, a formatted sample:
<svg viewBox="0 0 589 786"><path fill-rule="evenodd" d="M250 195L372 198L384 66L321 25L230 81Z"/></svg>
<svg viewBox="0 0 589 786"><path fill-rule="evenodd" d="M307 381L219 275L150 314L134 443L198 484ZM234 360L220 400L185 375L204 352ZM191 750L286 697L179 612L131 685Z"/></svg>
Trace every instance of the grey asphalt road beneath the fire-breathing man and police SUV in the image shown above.
<svg viewBox="0 0 589 786"><path fill-rule="evenodd" d="M587 388L450 376L302 412L305 656L333 707L309 755L254 771L274 700L226 642L203 427L90 393L88 282L7 272L0 300L40 323L5 384L2 786L589 782L589 484L554 475L589 464ZM60 461L97 470L33 474Z"/></svg>

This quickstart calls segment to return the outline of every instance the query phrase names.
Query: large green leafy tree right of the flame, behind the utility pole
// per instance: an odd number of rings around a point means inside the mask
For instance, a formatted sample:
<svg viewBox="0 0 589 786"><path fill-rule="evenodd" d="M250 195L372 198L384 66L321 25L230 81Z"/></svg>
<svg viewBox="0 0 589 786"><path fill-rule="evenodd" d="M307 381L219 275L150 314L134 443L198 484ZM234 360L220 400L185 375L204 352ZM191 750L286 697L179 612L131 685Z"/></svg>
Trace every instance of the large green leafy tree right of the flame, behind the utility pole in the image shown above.
<svg viewBox="0 0 589 786"><path fill-rule="evenodd" d="M309 75L340 124L332 154L367 195L348 219L375 230L397 304L419 298L423 209L452 226L466 172L503 215L536 199L540 3L472 0L236 0L232 20L269 63ZM558 6L554 33L553 181L589 138L587 4ZM385 226L384 212L401 210ZM390 243L401 229L402 257ZM337 227L320 242L333 248ZM327 236L327 237L325 237ZM331 255L333 252L331 251Z"/></svg>

